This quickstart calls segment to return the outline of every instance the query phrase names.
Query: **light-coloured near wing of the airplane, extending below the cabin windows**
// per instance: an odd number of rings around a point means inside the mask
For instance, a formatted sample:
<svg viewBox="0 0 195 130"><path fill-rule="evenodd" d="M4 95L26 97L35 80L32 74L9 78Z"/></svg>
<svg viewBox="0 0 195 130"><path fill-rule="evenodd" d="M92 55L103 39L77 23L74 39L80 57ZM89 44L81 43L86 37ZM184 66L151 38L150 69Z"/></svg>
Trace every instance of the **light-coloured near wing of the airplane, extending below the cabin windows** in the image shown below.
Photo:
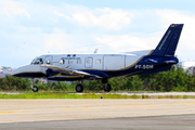
<svg viewBox="0 0 195 130"><path fill-rule="evenodd" d="M82 70L74 70L74 69L68 69L68 68L62 68L62 67L57 67L57 66L53 66L53 65L43 64L43 65L41 65L41 67L50 68L50 69L57 70L57 72L61 72L61 73L65 73L65 74L68 74L68 75L90 76L89 73L84 73Z"/></svg>

